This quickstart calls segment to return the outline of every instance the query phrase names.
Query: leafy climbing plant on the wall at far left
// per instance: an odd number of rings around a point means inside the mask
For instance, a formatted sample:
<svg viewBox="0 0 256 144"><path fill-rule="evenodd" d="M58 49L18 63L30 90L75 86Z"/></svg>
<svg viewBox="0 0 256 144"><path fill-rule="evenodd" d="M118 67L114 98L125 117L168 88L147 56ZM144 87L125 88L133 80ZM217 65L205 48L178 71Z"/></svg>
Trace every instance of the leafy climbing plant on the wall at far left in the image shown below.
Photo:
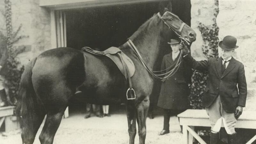
<svg viewBox="0 0 256 144"><path fill-rule="evenodd" d="M0 31L0 48L7 50L7 60L5 62L5 85L7 88L8 98L7 101L10 105L16 103L16 98L18 96L18 89L20 84L20 77L24 71L24 66L20 66L20 61L17 60L17 55L24 51L24 49L16 49L12 44L18 42L23 37L18 36L21 29L20 27L13 32L12 29L12 11L10 0L5 0L5 12L4 17L6 21L6 34Z"/></svg>

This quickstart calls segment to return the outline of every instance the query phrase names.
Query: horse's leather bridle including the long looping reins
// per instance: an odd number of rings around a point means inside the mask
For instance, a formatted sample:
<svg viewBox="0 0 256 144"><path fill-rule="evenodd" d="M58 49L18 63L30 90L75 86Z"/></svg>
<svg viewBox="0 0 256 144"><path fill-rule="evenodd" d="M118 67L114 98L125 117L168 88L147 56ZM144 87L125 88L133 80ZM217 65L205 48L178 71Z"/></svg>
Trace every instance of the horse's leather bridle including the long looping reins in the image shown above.
<svg viewBox="0 0 256 144"><path fill-rule="evenodd" d="M167 12L168 12L168 11L167 11ZM165 14L165 13L166 13L166 12L164 12L164 14ZM169 12L169 13L171 13L171 12ZM163 15L164 15L164 14L163 14ZM171 14L172 14L172 13L171 13ZM157 13L157 15L158 15L158 17L164 22L164 24L166 24L166 25L168 26L168 28L169 28L170 30L174 31L175 34L176 34L177 36L179 36L181 43L185 43L185 42L186 42L188 45L190 45L190 43L189 43L184 37L182 37L181 35L179 35L179 34L174 30L174 29L176 29L176 28L174 28L172 25L169 25L169 24L163 19L163 16L161 16L159 12ZM174 15L174 14L172 14L172 15ZM175 16L175 15L174 15L174 16ZM182 29L183 29L183 27L184 27L185 25L186 25L186 23L184 23L184 22L181 24L181 26L180 26L180 28L179 28L179 30L178 30L179 33L181 33L181 31L182 31ZM142 65L144 66L144 68L146 68L146 70L148 71L148 73L149 73L151 76L153 76L153 77L155 77L155 78L157 78L157 79L165 79L165 78L169 78L169 77L173 76L173 75L176 73L176 71L179 69L179 67L180 67L180 63L181 63L181 61L182 61L182 58L181 58L182 50L181 50L180 55L179 55L179 57L178 57L177 63L176 63L175 65L171 65L169 68L166 68L166 69L161 70L161 71L151 71L151 70L149 69L149 67L147 66L147 64L145 63L145 61L143 60L143 58L141 57L140 52L138 51L138 49L137 49L136 46L133 44L132 40L129 39L126 43L130 46L130 48L131 48L131 49L134 51L134 53L137 55L137 57L139 58L140 62L142 63ZM172 68L172 67L174 67L174 68ZM168 72L166 72L166 73L164 73L164 74L154 74L154 72L163 72L163 71L168 70L168 69L171 69L171 70L168 71ZM160 76L164 76L164 77L160 77Z"/></svg>

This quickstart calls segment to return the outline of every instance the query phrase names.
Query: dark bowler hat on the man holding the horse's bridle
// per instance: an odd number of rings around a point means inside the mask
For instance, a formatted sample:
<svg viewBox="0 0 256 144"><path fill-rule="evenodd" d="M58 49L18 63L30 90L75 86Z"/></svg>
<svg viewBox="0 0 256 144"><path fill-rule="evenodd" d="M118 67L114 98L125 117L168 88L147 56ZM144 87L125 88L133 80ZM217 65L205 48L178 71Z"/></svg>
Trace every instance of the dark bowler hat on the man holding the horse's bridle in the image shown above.
<svg viewBox="0 0 256 144"><path fill-rule="evenodd" d="M219 46L224 50L234 50L238 48L238 46L236 45L236 41L237 40L234 36L225 36L223 38L223 41L219 42Z"/></svg>

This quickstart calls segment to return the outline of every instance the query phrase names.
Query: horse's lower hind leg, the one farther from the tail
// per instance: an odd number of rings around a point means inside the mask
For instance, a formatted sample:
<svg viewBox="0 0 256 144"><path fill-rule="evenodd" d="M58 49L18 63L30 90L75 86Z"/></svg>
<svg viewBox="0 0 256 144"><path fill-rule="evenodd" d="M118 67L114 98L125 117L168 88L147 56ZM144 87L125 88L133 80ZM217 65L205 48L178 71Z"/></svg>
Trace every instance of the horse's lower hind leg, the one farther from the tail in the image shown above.
<svg viewBox="0 0 256 144"><path fill-rule="evenodd" d="M41 144L52 144L55 133L60 126L62 116L66 107L57 113L47 113L46 120L44 123L43 130L39 136Z"/></svg>

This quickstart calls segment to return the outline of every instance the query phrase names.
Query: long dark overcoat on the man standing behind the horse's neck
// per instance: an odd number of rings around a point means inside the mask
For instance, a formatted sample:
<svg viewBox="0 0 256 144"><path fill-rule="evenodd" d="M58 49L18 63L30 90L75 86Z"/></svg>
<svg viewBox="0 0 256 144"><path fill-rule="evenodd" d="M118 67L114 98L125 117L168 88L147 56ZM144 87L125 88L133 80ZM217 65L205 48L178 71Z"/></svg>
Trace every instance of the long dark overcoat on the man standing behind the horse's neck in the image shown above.
<svg viewBox="0 0 256 144"><path fill-rule="evenodd" d="M164 70L175 64L178 57L173 61L172 52L165 55L161 65ZM166 72L169 69L166 70ZM182 60L177 72L170 78L162 80L161 91L157 106L164 109L184 110L188 109L188 83L191 82L192 70L189 68L184 60Z"/></svg>

